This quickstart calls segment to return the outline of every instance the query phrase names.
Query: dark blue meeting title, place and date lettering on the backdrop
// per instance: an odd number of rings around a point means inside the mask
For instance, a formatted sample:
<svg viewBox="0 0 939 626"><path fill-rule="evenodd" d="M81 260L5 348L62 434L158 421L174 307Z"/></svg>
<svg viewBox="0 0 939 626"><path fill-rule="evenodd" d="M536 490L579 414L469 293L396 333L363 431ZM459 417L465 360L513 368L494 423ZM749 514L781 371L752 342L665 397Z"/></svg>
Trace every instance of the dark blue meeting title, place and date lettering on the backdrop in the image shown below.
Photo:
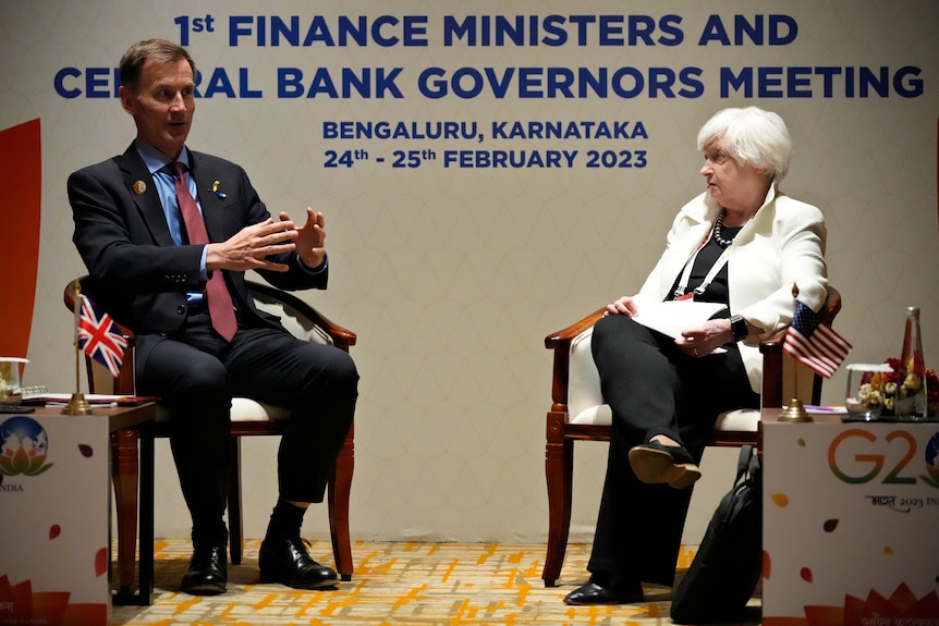
<svg viewBox="0 0 939 626"><path fill-rule="evenodd" d="M647 120L594 110L563 119L541 107L903 100L925 90L915 59L838 64L802 53L785 62L786 52L809 49L816 36L810 20L788 12L650 12L650 4L630 13L593 13L593 4L558 12L538 3L520 13L427 12L430 3L391 11L399 5L367 14L356 4L322 14L221 5L167 15L157 30L194 54L218 50L199 66L197 98L370 102L358 107L368 115L339 109L345 114L316 123L322 168L641 170L662 157ZM52 84L66 100L114 98L120 77L112 60L101 59L63 63ZM473 106L499 101L542 112L504 116L497 108L483 118L485 109ZM400 115L405 110L425 114ZM399 116L381 114L393 111Z"/></svg>

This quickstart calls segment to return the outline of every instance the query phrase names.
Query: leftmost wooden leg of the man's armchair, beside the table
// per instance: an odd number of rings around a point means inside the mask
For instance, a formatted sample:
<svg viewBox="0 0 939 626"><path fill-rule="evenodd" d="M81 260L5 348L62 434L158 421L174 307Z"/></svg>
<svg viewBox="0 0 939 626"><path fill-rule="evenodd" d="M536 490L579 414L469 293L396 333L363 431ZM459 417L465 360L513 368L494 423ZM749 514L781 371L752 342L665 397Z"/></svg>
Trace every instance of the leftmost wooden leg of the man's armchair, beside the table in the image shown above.
<svg viewBox="0 0 939 626"><path fill-rule="evenodd" d="M132 594L137 550L137 458L138 433L119 430L111 433L111 481L118 514L118 591Z"/></svg>

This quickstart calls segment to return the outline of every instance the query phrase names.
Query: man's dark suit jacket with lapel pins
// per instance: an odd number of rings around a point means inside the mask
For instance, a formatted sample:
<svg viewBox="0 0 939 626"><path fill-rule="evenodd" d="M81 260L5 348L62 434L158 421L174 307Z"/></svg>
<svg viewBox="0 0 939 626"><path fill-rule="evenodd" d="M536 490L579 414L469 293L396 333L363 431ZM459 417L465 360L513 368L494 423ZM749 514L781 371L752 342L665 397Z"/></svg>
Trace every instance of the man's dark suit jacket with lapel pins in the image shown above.
<svg viewBox="0 0 939 626"><path fill-rule="evenodd" d="M223 242L270 217L241 167L193 150L188 155L209 241ZM216 181L218 193L212 192ZM89 272L84 291L138 335L179 329L186 319L186 293L205 289L199 277L203 246L173 244L156 184L136 147L73 173L68 192L75 221L72 240ZM326 289L326 268L307 270L295 251L271 259L290 267L288 272L260 272L275 286ZM244 272L222 273L243 316L257 326L279 327L276 318L255 308Z"/></svg>

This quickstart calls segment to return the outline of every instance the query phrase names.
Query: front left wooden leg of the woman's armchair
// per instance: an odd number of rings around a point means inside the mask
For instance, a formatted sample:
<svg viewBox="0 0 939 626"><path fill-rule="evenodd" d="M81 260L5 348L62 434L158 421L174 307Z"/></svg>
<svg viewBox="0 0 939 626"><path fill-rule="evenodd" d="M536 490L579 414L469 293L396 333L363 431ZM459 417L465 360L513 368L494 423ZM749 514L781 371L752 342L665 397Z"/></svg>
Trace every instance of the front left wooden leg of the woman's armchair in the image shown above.
<svg viewBox="0 0 939 626"><path fill-rule="evenodd" d="M548 483L548 549L541 578L554 587L564 564L573 500L574 442L563 437L562 414L548 414L548 442L545 445L545 478Z"/></svg>

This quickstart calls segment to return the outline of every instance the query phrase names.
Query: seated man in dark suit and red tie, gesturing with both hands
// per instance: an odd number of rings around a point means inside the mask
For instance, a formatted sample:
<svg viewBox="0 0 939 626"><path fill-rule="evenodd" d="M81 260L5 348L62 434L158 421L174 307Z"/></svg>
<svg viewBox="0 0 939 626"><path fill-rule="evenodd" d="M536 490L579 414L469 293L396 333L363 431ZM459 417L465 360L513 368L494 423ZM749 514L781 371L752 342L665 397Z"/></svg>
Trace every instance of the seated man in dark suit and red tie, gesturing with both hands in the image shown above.
<svg viewBox="0 0 939 626"><path fill-rule="evenodd" d="M310 559L300 528L309 503L322 501L352 424L358 375L343 351L297 340L258 311L244 278L257 270L281 289L326 289L322 213L307 208L304 225L284 212L273 220L244 170L186 148L195 63L184 48L141 41L120 72L121 105L137 136L123 155L69 177L73 241L90 274L85 291L137 334L137 392L170 408L170 444L193 523L181 589L225 590L234 392L293 408L259 553L261 580L334 587L339 576Z"/></svg>

